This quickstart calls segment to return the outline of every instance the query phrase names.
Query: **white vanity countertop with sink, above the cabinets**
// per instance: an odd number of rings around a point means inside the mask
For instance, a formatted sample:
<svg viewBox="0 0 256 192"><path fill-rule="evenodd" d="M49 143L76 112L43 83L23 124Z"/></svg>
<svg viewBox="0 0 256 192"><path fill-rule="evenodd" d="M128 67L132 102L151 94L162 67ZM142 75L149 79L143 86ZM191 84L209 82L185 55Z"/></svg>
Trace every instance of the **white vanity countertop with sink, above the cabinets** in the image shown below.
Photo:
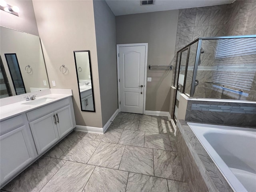
<svg viewBox="0 0 256 192"><path fill-rule="evenodd" d="M50 93L50 94L49 94ZM36 94L36 92L30 93L30 95L32 94ZM28 94L23 94L22 97L27 96ZM31 100L31 101L26 101L24 98L22 101L19 102L14 102L11 104L6 104L4 106L0 107L0 120L6 120L7 118L11 118L13 116L16 116L18 114L24 113L24 112L28 112L30 110L34 110L36 108L40 108L44 105L62 100L64 98L68 98L70 96L72 96L72 90L70 91L65 91L65 92L60 92L58 93L58 90L56 91L56 89L54 90L50 90L50 91L46 91L45 94L42 95L42 92L40 92L40 96L36 97L35 100ZM20 96L13 96L10 99L13 100L14 97L20 97ZM40 104L35 104L35 105L30 105L30 104L24 104L26 102L32 102L32 101L36 101L36 100L40 100L41 98L52 98L52 100L50 101L46 101ZM8 98L6 98L8 99ZM19 100L19 98L18 98ZM2 102L2 100L1 100Z"/></svg>

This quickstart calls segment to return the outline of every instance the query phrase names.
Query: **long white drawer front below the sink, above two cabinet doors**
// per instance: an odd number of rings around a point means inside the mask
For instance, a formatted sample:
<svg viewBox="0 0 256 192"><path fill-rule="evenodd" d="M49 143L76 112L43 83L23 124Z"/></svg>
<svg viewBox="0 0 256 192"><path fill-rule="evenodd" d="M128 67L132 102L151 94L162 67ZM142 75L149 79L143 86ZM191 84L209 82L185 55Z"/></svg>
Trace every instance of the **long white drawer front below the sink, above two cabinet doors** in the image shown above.
<svg viewBox="0 0 256 192"><path fill-rule="evenodd" d="M54 112L64 106L67 106L68 104L69 104L69 98L66 98L61 101L58 101L55 103L50 103L47 106L30 111L27 113L28 121L38 119L38 118L45 116L51 112Z"/></svg>

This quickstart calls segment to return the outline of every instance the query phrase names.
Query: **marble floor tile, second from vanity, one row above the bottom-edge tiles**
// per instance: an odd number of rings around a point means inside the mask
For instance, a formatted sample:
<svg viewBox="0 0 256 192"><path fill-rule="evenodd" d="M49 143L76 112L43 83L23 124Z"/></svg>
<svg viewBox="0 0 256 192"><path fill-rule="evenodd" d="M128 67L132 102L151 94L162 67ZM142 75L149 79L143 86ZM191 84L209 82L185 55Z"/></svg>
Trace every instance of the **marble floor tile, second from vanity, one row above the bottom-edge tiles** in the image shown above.
<svg viewBox="0 0 256 192"><path fill-rule="evenodd" d="M60 159L87 163L99 144L100 142L98 141L79 139Z"/></svg>

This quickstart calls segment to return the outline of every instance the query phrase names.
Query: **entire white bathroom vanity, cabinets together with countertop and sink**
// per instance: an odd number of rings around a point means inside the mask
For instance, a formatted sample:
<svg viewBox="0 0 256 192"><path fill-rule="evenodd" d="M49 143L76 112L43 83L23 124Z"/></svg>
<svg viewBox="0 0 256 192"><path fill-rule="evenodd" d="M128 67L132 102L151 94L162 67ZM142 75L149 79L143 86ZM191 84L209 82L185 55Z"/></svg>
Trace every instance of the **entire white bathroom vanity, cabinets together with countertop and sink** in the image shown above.
<svg viewBox="0 0 256 192"><path fill-rule="evenodd" d="M31 101L22 98L17 102L21 96L1 100L1 187L76 126L72 90L49 89L35 94L37 98Z"/></svg>

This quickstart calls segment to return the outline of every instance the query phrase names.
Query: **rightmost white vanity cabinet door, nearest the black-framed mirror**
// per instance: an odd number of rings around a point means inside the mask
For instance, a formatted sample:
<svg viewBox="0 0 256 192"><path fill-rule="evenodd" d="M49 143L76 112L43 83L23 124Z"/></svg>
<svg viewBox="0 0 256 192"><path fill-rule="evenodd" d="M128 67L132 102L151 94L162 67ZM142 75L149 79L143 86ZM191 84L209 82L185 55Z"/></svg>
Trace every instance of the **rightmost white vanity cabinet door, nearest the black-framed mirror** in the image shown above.
<svg viewBox="0 0 256 192"><path fill-rule="evenodd" d="M61 108L60 110L54 112L54 114L57 120L58 133L60 138L62 138L74 128L70 105Z"/></svg>

